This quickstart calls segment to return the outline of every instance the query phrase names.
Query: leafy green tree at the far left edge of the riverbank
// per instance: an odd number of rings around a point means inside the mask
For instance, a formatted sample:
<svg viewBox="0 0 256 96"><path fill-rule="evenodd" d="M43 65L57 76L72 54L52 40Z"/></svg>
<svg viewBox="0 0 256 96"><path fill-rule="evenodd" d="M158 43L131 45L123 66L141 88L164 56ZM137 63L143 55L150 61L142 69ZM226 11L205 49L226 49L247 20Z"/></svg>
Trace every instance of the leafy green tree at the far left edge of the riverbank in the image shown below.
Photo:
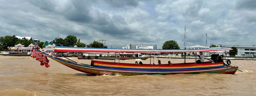
<svg viewBox="0 0 256 96"><path fill-rule="evenodd" d="M4 46L7 49L8 46L14 46L19 39L13 36L0 37L0 46Z"/></svg>

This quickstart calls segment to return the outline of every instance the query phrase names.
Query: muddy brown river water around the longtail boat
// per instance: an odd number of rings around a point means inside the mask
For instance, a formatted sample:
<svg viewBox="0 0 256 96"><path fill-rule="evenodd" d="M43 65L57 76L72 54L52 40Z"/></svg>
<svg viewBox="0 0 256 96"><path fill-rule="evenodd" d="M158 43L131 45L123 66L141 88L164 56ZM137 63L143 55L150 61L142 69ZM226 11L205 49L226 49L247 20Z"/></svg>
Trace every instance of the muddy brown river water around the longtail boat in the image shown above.
<svg viewBox="0 0 256 96"><path fill-rule="evenodd" d="M90 60L77 60L90 64ZM231 60L245 72L230 74L176 74L142 76L89 76L50 60L40 66L29 56L0 56L0 96L79 96L79 95L246 95L256 96L256 61ZM183 62L163 59L162 64ZM114 60L104 60L114 61ZM120 60L134 63L137 60ZM144 64L150 59L141 60ZM157 63L157 58L154 59ZM193 59L187 59L193 62ZM118 60L116 60L118 62ZM153 59L151 60L151 63Z"/></svg>

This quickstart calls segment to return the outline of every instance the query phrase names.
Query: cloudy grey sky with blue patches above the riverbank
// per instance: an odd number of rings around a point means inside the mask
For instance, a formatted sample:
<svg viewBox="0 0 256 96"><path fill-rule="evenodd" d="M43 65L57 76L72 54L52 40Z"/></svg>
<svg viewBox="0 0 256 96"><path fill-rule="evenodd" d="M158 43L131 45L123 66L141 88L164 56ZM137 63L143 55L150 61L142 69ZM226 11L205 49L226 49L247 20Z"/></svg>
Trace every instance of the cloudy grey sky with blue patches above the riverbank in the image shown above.
<svg viewBox="0 0 256 96"><path fill-rule="evenodd" d="M106 39L108 48L176 40L187 46L252 45L255 0L0 0L0 36L41 41L75 35L81 42Z"/></svg>

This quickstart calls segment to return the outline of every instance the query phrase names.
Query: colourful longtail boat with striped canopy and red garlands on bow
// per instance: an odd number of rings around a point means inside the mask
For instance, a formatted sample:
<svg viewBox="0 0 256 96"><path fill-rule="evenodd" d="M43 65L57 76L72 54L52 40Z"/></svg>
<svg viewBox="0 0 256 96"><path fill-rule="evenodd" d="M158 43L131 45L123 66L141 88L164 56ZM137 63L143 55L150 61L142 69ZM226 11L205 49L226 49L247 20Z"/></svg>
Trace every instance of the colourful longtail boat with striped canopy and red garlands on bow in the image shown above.
<svg viewBox="0 0 256 96"><path fill-rule="evenodd" d="M170 75L170 74L200 74L200 73L224 73L235 74L238 67L225 64L223 60L206 61L200 64L196 62L187 63L184 60L183 63L176 63L172 65L153 65L153 64L130 64L119 62L105 62L92 60L91 64L77 63L68 58L62 59L55 57L55 52L140 52L140 53L161 53L161 52L209 52L209 51L224 51L232 50L231 48L218 48L218 49L196 49L196 50L136 50L136 49L105 49L105 48L79 48L79 47L60 47L55 46L52 54L47 54L34 49L31 57L36 58L41 62L41 65L45 64L45 67L49 67L49 60L47 57L55 60L69 68L75 69L80 72L89 73L92 75ZM39 55L38 55L39 54ZM42 55L42 56L41 56ZM46 59L40 59L46 57ZM217 55L216 55L217 56ZM214 57L215 58L215 57ZM212 58L212 59L214 59ZM219 61L219 62L218 62Z"/></svg>

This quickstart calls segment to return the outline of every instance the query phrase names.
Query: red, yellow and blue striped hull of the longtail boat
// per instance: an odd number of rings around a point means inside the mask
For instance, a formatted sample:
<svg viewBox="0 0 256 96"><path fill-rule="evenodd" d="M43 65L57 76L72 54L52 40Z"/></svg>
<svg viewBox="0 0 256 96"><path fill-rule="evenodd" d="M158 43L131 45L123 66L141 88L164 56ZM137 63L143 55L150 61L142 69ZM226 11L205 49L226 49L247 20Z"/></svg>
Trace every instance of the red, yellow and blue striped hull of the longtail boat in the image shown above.
<svg viewBox="0 0 256 96"><path fill-rule="evenodd" d="M69 68L92 75L171 75L201 73L235 74L238 69L238 67L234 66L224 67L223 62L205 64L180 63L174 65L136 65L92 60L91 65L88 65L63 60L57 57L49 57Z"/></svg>

